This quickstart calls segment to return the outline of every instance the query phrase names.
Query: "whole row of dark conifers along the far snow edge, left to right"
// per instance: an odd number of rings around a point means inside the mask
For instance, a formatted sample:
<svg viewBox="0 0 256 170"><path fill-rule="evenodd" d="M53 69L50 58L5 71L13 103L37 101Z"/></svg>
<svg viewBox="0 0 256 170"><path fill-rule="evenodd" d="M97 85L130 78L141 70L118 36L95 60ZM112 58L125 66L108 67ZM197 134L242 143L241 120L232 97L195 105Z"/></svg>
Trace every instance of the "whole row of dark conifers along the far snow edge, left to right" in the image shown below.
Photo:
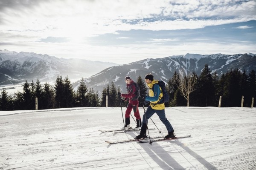
<svg viewBox="0 0 256 170"><path fill-rule="evenodd" d="M256 72L250 70L248 75L244 70L231 69L229 72L217 75L210 73L208 64L201 71L201 75L192 72L188 75L179 75L175 71L172 78L166 83L166 90L170 100L166 107L192 106L192 107L218 107L219 97L222 96L221 107L241 107L241 96L244 96L244 107L251 107L252 98L256 98ZM148 88L144 79L139 76L137 84L140 94L147 95ZM108 96L108 107L120 107L117 95L121 92L120 87L111 84L103 87L101 96L99 92L85 84L81 78L80 84L75 91L66 76L58 76L55 85L49 83L41 85L41 82L23 85L23 92L8 95L6 90L0 93L0 110L24 110L35 109L35 98L38 98L38 109L53 109L67 107L105 107ZM126 92L122 92L126 93ZM139 99L140 101L140 99ZM127 101L122 106L127 105ZM256 100L253 107L256 106ZM140 102L142 107L142 102Z"/></svg>

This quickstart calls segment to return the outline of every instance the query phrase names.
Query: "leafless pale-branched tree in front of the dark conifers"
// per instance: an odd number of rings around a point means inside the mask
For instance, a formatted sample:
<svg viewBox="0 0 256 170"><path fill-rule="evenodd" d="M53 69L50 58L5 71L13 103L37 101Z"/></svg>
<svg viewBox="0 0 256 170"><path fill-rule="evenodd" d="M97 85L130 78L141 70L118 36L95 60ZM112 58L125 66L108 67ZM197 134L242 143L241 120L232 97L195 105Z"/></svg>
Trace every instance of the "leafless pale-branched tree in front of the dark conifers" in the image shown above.
<svg viewBox="0 0 256 170"><path fill-rule="evenodd" d="M177 79L179 83L178 88L180 89L182 95L187 101L187 107L189 107L189 95L193 91L195 91L195 84L196 84L197 76L193 74L185 75L184 77L180 75L180 79Z"/></svg>

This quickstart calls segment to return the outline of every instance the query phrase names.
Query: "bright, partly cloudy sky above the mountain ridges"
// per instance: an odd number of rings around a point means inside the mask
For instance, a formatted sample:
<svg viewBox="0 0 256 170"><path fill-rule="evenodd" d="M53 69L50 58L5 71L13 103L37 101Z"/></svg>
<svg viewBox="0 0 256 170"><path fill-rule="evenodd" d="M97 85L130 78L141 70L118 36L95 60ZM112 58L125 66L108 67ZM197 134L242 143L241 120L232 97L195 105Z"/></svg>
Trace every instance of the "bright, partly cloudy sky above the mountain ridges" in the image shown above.
<svg viewBox="0 0 256 170"><path fill-rule="evenodd" d="M0 50L126 64L255 44L256 0L0 0Z"/></svg>

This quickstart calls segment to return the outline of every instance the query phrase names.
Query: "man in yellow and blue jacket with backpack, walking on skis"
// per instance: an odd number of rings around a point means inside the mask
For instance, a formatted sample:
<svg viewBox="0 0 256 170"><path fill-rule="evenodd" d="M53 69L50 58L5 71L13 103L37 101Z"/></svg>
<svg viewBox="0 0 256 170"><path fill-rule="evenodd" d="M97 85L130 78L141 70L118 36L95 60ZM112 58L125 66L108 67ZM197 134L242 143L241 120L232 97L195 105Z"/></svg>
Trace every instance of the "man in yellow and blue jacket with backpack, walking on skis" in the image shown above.
<svg viewBox="0 0 256 170"><path fill-rule="evenodd" d="M145 75L145 82L146 82L149 90L148 90L148 96L145 96L144 99L145 99L145 101L149 101L150 105L148 106L145 114L143 115L143 121L142 121L142 127L140 129L140 135L137 135L135 138L136 139L146 138L148 119L151 118L151 116L154 115L154 113L157 113L160 120L166 126L168 135L166 135L165 138L175 138L175 134L174 134L172 125L167 120L166 115L165 115L164 103L162 103L162 104L157 103L163 97L163 92L162 92L161 87L158 84L158 81L154 80L153 75L147 74L147 75ZM142 96L142 98L143 98L143 96Z"/></svg>

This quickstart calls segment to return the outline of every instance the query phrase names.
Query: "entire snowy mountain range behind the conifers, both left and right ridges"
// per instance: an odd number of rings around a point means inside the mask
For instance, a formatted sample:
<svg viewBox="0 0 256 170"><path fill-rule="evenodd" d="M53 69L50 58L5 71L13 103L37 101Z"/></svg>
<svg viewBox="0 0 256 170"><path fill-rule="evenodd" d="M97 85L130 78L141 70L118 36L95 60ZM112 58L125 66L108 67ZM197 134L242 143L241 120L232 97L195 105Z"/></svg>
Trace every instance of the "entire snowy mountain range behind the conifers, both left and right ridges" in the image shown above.
<svg viewBox="0 0 256 170"><path fill-rule="evenodd" d="M102 91L103 87L116 86L125 92L125 76L134 81L140 75L142 78L148 73L157 80L167 82L174 72L184 75L190 72L201 74L205 64L211 73L225 74L231 69L238 68L241 72L256 70L256 55L252 53L224 55L186 54L173 55L165 58L148 58L145 60L118 65L101 61L87 61L83 59L64 59L55 56L41 55L34 52L11 52L0 50L0 85L15 84L24 80L55 81L57 75L68 76L69 79L85 78L89 88ZM74 89L79 81L73 84Z"/></svg>

